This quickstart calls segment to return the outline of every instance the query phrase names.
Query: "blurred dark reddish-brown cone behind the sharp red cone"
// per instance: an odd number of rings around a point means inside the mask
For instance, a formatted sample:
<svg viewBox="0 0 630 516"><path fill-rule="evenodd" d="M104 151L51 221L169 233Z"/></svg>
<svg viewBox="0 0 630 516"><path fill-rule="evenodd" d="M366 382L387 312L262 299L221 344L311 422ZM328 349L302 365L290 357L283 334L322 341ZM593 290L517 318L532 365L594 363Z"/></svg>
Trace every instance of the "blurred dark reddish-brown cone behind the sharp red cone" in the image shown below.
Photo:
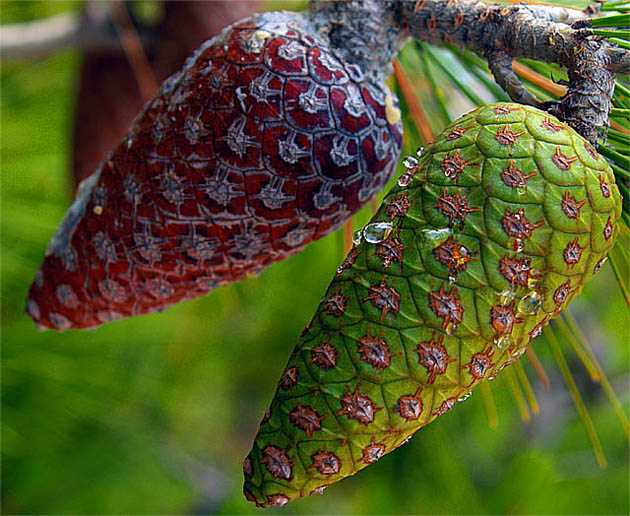
<svg viewBox="0 0 630 516"><path fill-rule="evenodd" d="M133 5L133 4L132 4ZM84 9L88 16L92 3ZM255 0L161 0L156 35L146 48L151 70L160 82L175 73L209 37L260 7ZM133 11L132 11L133 12ZM139 32L144 28L141 22ZM90 176L127 133L142 109L143 99L129 59L122 49L104 52L83 50L75 99L72 168L75 185Z"/></svg>

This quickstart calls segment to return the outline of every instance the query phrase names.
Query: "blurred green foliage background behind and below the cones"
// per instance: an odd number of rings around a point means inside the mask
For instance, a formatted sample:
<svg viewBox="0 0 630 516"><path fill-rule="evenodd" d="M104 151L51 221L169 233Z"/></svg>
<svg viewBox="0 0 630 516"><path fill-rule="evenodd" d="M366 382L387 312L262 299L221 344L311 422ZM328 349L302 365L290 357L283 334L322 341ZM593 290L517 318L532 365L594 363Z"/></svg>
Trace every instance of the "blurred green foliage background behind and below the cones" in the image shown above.
<svg viewBox="0 0 630 516"><path fill-rule="evenodd" d="M2 23L77 8L0 6ZM241 460L342 258L342 236L162 314L39 333L24 301L72 199L79 64L64 51L1 67L2 512L261 512L241 494ZM357 227L368 217L356 217ZM609 266L572 310L627 411L629 318ZM552 385L544 390L523 359L540 404L530 422L499 376L491 384L498 428L476 393L324 496L266 514L628 514L628 442L601 387L565 345L606 469L549 348L542 339L534 347Z"/></svg>

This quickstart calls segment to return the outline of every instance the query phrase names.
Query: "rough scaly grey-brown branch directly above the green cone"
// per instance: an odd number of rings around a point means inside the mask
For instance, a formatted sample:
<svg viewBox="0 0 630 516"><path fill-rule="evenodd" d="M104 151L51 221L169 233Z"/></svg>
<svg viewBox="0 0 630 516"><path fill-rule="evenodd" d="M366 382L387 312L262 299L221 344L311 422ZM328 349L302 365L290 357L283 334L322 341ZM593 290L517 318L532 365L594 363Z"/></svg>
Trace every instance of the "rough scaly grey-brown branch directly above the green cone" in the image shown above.
<svg viewBox="0 0 630 516"><path fill-rule="evenodd" d="M547 109L593 143L608 125L615 75L630 73L630 52L595 36L588 28L588 14L575 9L408 0L400 5L399 14L411 36L483 54L496 81L513 100ZM515 58L566 67L567 93L559 101L537 99L514 73Z"/></svg>

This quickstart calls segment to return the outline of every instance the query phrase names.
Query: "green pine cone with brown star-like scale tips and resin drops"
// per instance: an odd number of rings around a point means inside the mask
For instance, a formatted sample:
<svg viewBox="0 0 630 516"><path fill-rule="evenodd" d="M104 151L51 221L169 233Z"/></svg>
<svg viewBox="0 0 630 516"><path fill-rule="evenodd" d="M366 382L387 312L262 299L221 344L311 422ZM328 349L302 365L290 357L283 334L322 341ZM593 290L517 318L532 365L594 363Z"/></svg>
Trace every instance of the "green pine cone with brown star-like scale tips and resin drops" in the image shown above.
<svg viewBox="0 0 630 516"><path fill-rule="evenodd" d="M523 354L618 231L610 166L519 104L431 144L328 287L244 462L266 507L321 492L403 444Z"/></svg>

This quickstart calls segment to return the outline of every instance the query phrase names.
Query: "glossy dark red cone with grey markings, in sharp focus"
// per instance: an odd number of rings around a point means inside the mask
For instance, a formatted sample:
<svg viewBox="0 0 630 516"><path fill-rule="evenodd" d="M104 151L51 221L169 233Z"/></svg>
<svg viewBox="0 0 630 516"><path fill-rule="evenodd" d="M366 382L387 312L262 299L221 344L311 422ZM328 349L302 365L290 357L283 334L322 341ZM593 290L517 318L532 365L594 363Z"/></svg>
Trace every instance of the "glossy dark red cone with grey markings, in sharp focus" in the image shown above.
<svg viewBox="0 0 630 516"><path fill-rule="evenodd" d="M256 15L204 43L85 181L28 315L64 330L155 311L339 227L400 152L396 99L374 77L301 14Z"/></svg>

